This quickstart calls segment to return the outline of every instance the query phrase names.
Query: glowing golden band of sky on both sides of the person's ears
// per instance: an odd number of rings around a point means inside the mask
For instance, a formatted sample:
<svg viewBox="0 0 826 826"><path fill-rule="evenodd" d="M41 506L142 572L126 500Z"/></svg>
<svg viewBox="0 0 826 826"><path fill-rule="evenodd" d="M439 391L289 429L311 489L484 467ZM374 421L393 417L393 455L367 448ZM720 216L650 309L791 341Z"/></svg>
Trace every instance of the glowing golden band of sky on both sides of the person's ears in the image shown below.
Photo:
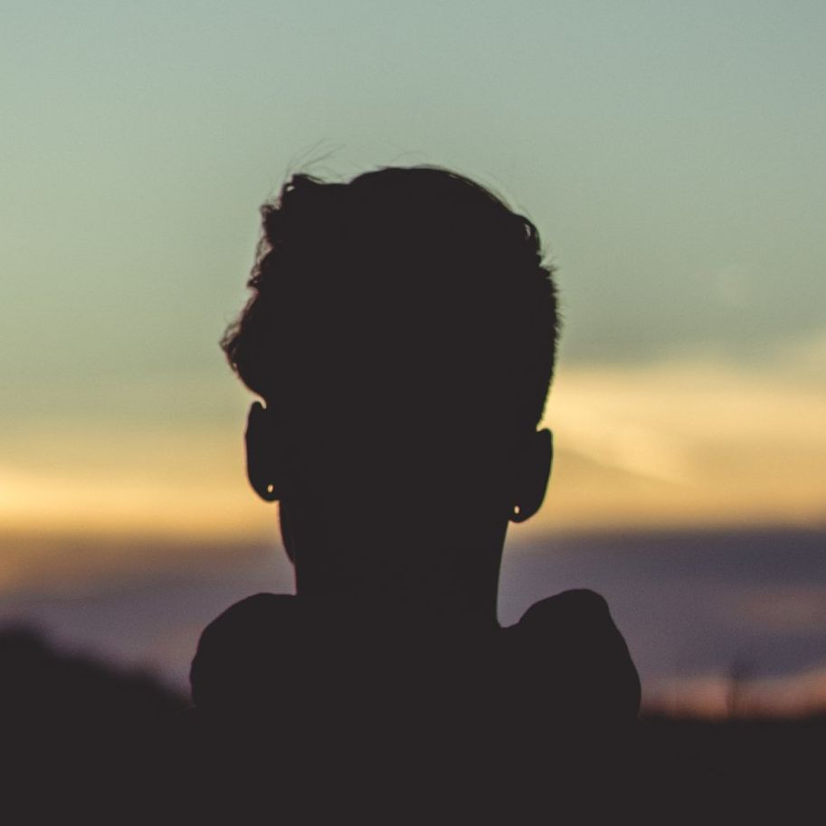
<svg viewBox="0 0 826 826"><path fill-rule="evenodd" d="M543 422L555 433L546 503L517 530L824 524L826 388L789 372L749 374L687 361L561 366ZM233 377L223 381L230 385ZM209 404L207 386L203 397L184 389L190 404ZM24 453L15 462L8 446L0 462L0 529L274 533L275 509L254 496L244 476L250 398L232 392L234 422L227 415L200 425L33 428L26 443L48 460L38 467Z"/></svg>

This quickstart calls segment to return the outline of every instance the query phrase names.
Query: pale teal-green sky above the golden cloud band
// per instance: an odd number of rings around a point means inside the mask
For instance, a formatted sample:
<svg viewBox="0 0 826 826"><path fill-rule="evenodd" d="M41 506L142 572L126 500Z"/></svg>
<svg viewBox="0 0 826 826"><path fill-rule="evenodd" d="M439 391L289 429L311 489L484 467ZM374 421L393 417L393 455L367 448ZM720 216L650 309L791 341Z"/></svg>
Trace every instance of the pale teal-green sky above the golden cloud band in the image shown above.
<svg viewBox="0 0 826 826"><path fill-rule="evenodd" d="M567 366L817 347L824 42L801 0L5 2L0 422L234 418L216 341L305 166L527 211Z"/></svg>

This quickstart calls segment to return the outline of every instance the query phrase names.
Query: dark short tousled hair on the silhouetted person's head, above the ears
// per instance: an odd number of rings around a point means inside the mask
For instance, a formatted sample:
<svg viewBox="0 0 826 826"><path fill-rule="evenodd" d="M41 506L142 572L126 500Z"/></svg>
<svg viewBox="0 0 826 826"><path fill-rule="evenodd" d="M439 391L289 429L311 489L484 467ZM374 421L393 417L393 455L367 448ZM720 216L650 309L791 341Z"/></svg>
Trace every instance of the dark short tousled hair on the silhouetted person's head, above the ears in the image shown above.
<svg viewBox="0 0 826 826"><path fill-rule="evenodd" d="M430 166L296 175L261 215L252 297L222 340L254 393L299 421L331 393L376 420L542 418L553 268L534 224L487 189Z"/></svg>

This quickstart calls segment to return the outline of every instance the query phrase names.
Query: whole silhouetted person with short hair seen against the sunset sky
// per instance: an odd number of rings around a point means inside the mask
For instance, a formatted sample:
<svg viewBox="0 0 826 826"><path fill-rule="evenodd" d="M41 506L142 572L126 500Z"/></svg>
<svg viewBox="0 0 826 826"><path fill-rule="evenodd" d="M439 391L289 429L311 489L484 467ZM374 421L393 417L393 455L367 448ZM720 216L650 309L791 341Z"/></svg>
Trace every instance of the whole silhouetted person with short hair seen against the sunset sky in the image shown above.
<svg viewBox="0 0 826 826"><path fill-rule="evenodd" d="M606 794L640 686L603 599L497 622L508 523L536 513L552 459L535 227L430 167L293 176L262 215L223 349L263 400L249 479L280 503L297 594L204 631L185 800L393 823Z"/></svg>

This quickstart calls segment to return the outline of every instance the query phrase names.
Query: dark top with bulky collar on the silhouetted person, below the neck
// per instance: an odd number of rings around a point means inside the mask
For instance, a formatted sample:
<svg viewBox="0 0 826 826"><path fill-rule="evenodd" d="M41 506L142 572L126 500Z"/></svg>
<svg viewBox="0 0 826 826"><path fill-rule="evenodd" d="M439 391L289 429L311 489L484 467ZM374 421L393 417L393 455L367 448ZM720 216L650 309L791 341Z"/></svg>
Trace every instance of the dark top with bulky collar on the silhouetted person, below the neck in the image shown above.
<svg viewBox="0 0 826 826"><path fill-rule="evenodd" d="M177 788L190 814L236 819L519 821L604 802L640 704L590 591L489 629L260 593L204 630L191 681Z"/></svg>

